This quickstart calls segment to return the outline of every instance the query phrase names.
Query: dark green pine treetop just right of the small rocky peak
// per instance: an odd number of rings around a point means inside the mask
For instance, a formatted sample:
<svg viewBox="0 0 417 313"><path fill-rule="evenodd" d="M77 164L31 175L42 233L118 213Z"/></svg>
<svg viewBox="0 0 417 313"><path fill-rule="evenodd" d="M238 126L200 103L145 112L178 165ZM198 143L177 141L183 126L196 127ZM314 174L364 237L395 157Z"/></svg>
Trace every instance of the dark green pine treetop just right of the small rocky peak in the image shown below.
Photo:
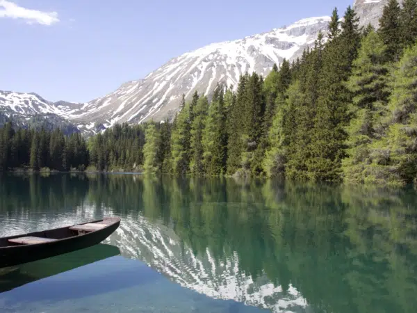
<svg viewBox="0 0 417 313"><path fill-rule="evenodd" d="M402 48L401 9L397 0L389 0L384 7L382 17L379 19L378 33L386 45L386 58L388 61L398 61Z"/></svg>

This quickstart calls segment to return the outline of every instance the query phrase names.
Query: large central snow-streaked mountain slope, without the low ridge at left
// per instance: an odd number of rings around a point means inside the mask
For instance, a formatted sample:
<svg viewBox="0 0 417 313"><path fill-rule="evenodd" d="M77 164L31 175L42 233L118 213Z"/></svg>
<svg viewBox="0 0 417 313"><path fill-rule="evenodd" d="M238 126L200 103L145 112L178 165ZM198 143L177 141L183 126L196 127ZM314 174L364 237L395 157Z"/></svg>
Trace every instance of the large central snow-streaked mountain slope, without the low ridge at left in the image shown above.
<svg viewBox="0 0 417 313"><path fill-rule="evenodd" d="M327 31L328 23L329 17L302 19L268 33L188 52L172 58L145 79L124 83L113 93L89 102L85 113L71 117L106 126L169 118L177 111L182 94L189 99L197 90L200 95L210 96L218 82L236 87L245 72L265 76L274 63L297 58L313 45L319 31Z"/></svg>

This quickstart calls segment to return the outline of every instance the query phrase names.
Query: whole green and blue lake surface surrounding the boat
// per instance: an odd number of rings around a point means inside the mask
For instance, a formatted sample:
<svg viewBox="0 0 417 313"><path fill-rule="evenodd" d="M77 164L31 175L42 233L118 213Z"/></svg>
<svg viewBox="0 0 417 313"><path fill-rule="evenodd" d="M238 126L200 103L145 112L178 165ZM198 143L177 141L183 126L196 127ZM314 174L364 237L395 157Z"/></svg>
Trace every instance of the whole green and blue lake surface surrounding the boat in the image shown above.
<svg viewBox="0 0 417 313"><path fill-rule="evenodd" d="M143 175L2 175L0 236L120 216L0 276L1 312L416 312L417 192Z"/></svg>

